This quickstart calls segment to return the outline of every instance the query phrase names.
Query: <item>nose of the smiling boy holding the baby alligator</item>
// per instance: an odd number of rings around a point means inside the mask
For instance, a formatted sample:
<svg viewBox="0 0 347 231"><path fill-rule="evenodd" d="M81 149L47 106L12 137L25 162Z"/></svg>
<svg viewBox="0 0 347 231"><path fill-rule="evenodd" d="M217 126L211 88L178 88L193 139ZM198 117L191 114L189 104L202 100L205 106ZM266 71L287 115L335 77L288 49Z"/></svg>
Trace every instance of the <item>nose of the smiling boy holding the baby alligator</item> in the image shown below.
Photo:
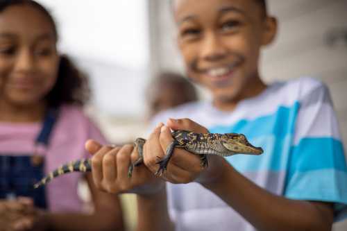
<svg viewBox="0 0 347 231"><path fill-rule="evenodd" d="M215 33L206 33L201 43L201 58L214 62L226 57L228 51Z"/></svg>

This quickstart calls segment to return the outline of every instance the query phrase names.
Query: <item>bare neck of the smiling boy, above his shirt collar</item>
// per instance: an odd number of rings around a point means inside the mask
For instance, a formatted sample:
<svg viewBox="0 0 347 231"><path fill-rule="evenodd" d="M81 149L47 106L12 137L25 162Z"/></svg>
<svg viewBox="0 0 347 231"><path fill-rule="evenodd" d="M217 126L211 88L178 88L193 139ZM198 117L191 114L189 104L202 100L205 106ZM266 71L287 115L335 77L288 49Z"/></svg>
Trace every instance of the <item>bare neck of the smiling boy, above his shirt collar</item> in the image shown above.
<svg viewBox="0 0 347 231"><path fill-rule="evenodd" d="M244 89L238 96L235 96L232 99L214 99L213 104L221 111L231 112L236 108L240 101L258 96L264 91L264 89L266 89L266 85L262 80L260 78L255 78L253 83Z"/></svg>

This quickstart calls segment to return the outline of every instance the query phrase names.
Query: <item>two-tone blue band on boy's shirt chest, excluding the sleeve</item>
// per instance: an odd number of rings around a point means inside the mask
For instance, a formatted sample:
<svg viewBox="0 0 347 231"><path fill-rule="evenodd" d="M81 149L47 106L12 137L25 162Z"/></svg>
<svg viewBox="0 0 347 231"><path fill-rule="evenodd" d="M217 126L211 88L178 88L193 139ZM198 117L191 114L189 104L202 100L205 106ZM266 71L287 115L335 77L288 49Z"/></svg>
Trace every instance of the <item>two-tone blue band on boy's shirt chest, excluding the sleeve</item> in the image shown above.
<svg viewBox="0 0 347 231"><path fill-rule="evenodd" d="M242 119L229 126L215 126L210 132L243 133L254 146L261 146L264 153L234 155L226 157L238 171L282 171L287 169L287 160L294 133L296 115L300 104L291 107L280 106L273 114L253 120Z"/></svg>

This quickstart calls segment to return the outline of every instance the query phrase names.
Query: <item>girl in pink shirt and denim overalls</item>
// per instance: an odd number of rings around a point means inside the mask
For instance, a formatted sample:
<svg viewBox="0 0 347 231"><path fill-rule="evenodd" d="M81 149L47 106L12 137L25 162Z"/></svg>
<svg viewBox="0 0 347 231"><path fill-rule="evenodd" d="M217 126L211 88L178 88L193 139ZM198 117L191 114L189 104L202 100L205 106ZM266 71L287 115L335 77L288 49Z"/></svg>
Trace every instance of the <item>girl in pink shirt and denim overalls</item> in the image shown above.
<svg viewBox="0 0 347 231"><path fill-rule="evenodd" d="M123 230L119 198L96 189L90 174L33 189L42 176L88 157L85 139L105 144L83 114L86 78L56 49L56 24L31 0L0 1L0 230ZM81 211L87 180L94 212Z"/></svg>

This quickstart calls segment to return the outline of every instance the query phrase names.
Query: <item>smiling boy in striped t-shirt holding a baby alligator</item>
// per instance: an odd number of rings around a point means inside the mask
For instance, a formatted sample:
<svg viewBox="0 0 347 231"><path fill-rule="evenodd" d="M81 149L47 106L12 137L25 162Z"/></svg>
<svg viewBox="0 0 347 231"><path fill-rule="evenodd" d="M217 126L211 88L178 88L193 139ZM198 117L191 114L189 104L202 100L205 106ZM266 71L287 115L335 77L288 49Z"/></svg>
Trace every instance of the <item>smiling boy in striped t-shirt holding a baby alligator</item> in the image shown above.
<svg viewBox="0 0 347 231"><path fill-rule="evenodd" d="M347 204L335 112L316 80L262 83L260 49L276 35L265 1L177 0L174 10L187 74L212 92L212 102L159 114L155 122L189 119L158 124L132 178L126 176L137 158L132 146L87 142L96 153L97 187L137 193L138 230L330 230ZM167 171L155 178L157 157L172 140L169 128L244 133L264 153L210 157L201 169L199 157L177 148Z"/></svg>

